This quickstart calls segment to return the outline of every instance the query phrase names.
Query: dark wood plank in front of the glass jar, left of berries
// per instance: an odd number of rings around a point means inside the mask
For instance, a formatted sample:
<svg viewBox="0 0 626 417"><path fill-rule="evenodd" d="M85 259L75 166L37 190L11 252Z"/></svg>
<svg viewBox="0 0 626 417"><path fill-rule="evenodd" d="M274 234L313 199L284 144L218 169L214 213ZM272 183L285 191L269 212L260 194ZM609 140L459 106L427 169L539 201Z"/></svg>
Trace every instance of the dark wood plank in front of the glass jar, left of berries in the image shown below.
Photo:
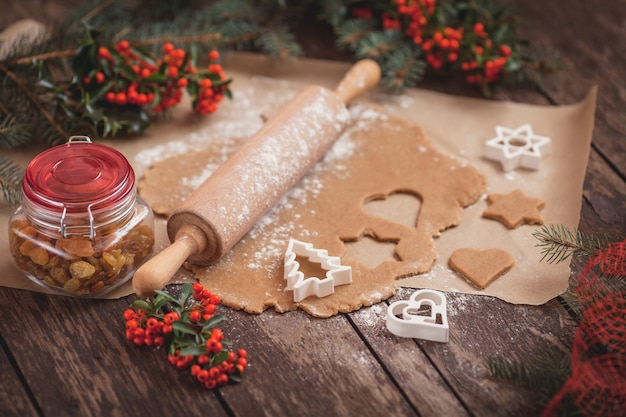
<svg viewBox="0 0 626 417"><path fill-rule="evenodd" d="M175 415L180 409L189 415L225 413L215 395L181 375L164 352L125 340L125 299L2 288L0 306L0 333L45 416ZM8 382L1 383L4 388Z"/></svg>

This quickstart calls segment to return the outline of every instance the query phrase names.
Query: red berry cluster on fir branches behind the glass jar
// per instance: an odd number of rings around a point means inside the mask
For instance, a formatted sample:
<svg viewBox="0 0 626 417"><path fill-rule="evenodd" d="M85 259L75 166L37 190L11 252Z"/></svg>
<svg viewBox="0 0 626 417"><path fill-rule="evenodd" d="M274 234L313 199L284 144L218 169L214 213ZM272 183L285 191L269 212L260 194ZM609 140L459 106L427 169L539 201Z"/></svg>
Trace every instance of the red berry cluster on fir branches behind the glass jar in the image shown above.
<svg viewBox="0 0 626 417"><path fill-rule="evenodd" d="M102 97L103 104L161 113L179 104L186 89L196 112L216 111L230 94L230 80L217 63L219 53L210 52L206 69L199 70L185 50L166 43L162 51L163 56L156 58L126 40L113 47L97 46L96 59L81 78L85 93Z"/></svg>

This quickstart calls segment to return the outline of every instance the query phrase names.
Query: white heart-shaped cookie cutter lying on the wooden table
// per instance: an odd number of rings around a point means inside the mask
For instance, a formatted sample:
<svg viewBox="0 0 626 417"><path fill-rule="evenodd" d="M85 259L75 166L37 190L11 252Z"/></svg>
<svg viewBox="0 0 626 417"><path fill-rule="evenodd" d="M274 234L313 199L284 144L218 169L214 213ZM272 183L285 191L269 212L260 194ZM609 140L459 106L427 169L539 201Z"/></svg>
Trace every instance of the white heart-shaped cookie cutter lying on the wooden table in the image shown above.
<svg viewBox="0 0 626 417"><path fill-rule="evenodd" d="M408 300L389 305L386 324L396 336L447 342L446 297L440 291L417 290Z"/></svg>

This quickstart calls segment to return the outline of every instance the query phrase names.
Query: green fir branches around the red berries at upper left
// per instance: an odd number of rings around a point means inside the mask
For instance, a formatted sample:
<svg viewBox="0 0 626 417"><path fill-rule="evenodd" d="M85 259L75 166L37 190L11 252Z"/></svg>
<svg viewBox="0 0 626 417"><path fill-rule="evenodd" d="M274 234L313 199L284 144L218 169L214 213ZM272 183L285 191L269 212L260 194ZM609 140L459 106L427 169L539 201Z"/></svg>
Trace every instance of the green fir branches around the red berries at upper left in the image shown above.
<svg viewBox="0 0 626 417"><path fill-rule="evenodd" d="M85 94L81 77L90 71L86 63L95 62L98 45L112 48L125 40L148 57L170 43L185 48L193 62L215 49L262 51L283 59L301 54L285 24L284 1L196 3L87 1L65 21L13 40L0 57L0 148L52 146L75 134L137 133L159 117L137 106L101 105L98 94L104 89ZM11 204L17 201L17 172L11 161L0 165L0 197Z"/></svg>

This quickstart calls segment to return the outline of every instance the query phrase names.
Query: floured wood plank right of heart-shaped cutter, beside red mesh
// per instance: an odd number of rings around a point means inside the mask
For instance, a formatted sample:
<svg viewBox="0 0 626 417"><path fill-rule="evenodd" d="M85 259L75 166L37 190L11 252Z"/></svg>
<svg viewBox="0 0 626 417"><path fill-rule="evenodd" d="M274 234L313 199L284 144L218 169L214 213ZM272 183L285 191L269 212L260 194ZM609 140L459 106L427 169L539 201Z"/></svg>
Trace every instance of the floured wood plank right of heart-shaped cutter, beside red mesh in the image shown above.
<svg viewBox="0 0 626 417"><path fill-rule="evenodd" d="M489 378L486 362L504 356L530 361L546 349L568 352L574 327L556 301L512 306L490 297L447 294L450 342L418 341L433 365L477 416L539 415L545 399Z"/></svg>

